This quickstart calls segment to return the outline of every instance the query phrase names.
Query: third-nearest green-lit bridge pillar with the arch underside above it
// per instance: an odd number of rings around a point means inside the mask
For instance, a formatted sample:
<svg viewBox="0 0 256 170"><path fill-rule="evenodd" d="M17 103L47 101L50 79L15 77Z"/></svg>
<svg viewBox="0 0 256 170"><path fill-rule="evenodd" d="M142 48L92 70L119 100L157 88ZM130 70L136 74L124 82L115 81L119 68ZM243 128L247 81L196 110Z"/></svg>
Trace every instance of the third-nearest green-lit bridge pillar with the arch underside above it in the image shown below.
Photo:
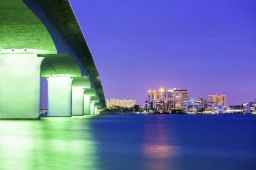
<svg viewBox="0 0 256 170"><path fill-rule="evenodd" d="M74 78L72 83L72 115L84 115L85 88L91 88L91 83L87 76Z"/></svg>

